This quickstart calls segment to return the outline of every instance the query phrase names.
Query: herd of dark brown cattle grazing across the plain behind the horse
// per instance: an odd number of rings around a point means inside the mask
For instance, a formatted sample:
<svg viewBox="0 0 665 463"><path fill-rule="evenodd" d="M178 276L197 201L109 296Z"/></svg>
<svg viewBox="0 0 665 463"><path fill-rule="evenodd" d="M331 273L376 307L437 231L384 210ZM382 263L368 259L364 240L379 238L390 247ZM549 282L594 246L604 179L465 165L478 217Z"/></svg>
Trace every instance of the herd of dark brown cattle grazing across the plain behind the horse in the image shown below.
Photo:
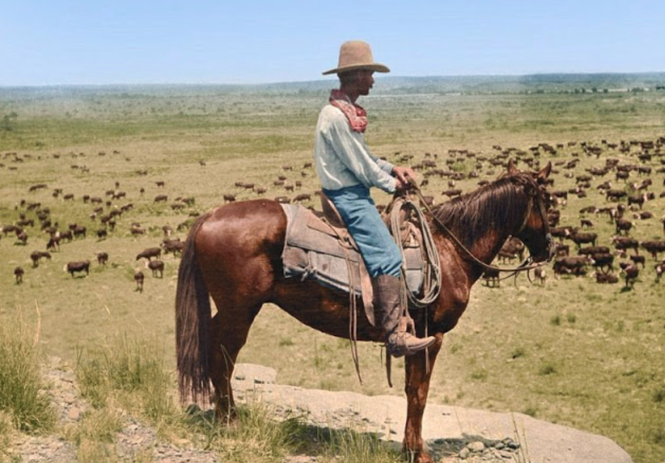
<svg viewBox="0 0 665 463"><path fill-rule="evenodd" d="M426 196L427 202L434 206L437 201L450 200L487 184L503 171L509 159L517 160L518 166L530 169L537 169L543 162L551 161L554 169L549 191L554 207L549 211L548 219L551 234L558 243L556 259L551 264L554 277L592 277L602 284L623 280L623 287L633 289L635 282L658 282L665 271L665 221L659 210L665 191L662 188L660 192L655 191L659 186L665 186L664 150L665 137L660 137L654 140L620 140L617 143L606 140L571 141L556 145L539 143L525 149L494 145L489 153L448 150L443 155L425 153L420 161L415 155L396 152L391 161L410 165L418 172L423 192L430 193ZM16 152L5 153L4 160L20 156ZM138 174L145 175L147 172ZM562 188L559 184L568 187ZM169 204L165 182L154 181L153 185L159 188L159 194L152 200L143 200L145 187L137 191L135 200L151 203L154 207L166 203L175 213L183 213L185 208L191 208L195 203L194 198L178 197ZM230 203L237 198L262 198L269 192L278 191L274 200L312 207L318 191L304 192L306 186L317 187L311 162L305 162L300 169L293 165L282 166L272 184L262 186L256 182L236 181L220 195L219 200ZM432 196L432 189L437 186L446 189ZM26 190L28 198L20 198L16 202L14 220L3 224L0 229L0 238L4 238L4 242L10 241L13 236L14 245L26 248L30 236L43 234L47 237L44 249L26 253L26 260L30 258L35 271L40 263L51 260L52 253L58 253L61 246L73 246L73 243L85 239L97 239L103 246L104 241L116 233L116 227L133 237L154 232L154 227L147 229L131 219L134 203L127 199L132 194L121 190L119 181L115 182L114 188L80 198L72 193L63 193L62 188L51 188L53 200L80 201L89 207L90 220L87 224L62 225L66 220L53 217L48 204L30 200L30 196L48 190L49 186L43 183L29 186ZM191 211L191 216L196 215L195 210ZM663 223L654 225L658 221ZM185 220L178 225L178 232L186 232L192 222L192 217ZM94 229L89 231L92 228L90 224ZM173 229L164 225L159 245L136 255L137 261L145 259L145 268L150 269L152 277L161 278L164 275L162 254L177 256L183 249L184 241L173 238L172 233ZM509 239L495 264L514 265L524 258L523 253L523 243ZM90 257L84 255L80 260L70 261L64 270L73 278L89 275ZM108 251L99 251L94 258L97 266L103 268L113 255ZM533 275L534 281L545 284L546 275L546 270L539 268ZM14 277L17 284L23 282L27 277L23 267L14 269ZM494 272L487 271L484 279L488 286L499 287L499 276ZM140 269L135 269L134 281L136 291L142 291L144 275Z"/></svg>

